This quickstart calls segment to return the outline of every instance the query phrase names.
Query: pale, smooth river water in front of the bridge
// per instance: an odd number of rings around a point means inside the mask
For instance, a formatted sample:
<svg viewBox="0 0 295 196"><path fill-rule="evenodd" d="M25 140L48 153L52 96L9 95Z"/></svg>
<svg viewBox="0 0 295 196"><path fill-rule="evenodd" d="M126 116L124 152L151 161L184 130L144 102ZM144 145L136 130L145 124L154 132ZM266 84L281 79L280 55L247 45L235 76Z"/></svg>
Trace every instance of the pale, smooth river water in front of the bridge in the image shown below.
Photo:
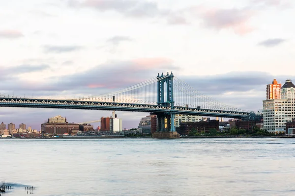
<svg viewBox="0 0 295 196"><path fill-rule="evenodd" d="M4 196L294 196L295 140L0 139L0 181Z"/></svg>

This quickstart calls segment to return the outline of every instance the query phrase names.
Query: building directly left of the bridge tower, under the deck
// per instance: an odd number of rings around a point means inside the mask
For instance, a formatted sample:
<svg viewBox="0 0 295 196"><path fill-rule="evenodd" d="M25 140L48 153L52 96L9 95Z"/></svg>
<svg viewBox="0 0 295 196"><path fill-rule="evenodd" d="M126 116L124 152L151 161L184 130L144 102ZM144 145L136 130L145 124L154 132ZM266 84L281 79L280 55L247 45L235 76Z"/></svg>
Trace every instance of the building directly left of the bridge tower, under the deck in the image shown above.
<svg viewBox="0 0 295 196"><path fill-rule="evenodd" d="M140 120L138 128L141 129L141 133L153 134L157 131L157 115L149 115Z"/></svg>

